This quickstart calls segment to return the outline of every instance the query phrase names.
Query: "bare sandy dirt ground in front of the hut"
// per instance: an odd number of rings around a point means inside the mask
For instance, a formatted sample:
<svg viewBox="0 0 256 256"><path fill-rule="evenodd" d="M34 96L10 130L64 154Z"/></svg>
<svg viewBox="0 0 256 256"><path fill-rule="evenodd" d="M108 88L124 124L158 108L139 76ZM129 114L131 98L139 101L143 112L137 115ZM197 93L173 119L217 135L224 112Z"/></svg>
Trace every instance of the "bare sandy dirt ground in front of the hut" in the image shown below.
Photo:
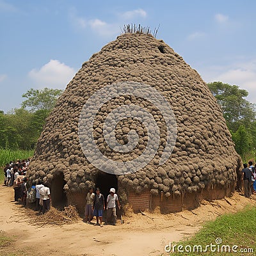
<svg viewBox="0 0 256 256"><path fill-rule="evenodd" d="M205 221L256 202L256 196L248 199L235 193L227 200L203 201L193 211L130 213L124 217L124 224L118 221L116 226L93 226L80 219L74 224L40 227L29 223L23 207L13 198L12 188L0 187L0 230L6 236L15 236L12 248L25 251L22 255L35 255L35 250L40 252L36 255L167 255L164 246L169 242L192 236ZM7 255L5 248L0 248L0 255Z"/></svg>

